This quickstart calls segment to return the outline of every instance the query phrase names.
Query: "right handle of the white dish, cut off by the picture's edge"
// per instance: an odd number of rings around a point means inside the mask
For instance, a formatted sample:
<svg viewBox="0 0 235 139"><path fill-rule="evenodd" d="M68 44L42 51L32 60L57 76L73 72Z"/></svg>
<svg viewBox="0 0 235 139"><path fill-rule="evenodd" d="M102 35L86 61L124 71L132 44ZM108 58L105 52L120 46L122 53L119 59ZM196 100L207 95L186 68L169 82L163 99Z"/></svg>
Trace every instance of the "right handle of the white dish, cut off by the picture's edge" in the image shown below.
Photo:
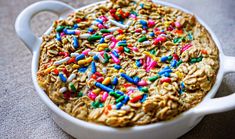
<svg viewBox="0 0 235 139"><path fill-rule="evenodd" d="M224 65L222 68L224 73L227 74L235 72L235 57L224 56L223 60ZM232 109L235 109L235 93L220 98L212 98L203 103L202 106L196 107L195 113L198 115L207 115L225 112Z"/></svg>

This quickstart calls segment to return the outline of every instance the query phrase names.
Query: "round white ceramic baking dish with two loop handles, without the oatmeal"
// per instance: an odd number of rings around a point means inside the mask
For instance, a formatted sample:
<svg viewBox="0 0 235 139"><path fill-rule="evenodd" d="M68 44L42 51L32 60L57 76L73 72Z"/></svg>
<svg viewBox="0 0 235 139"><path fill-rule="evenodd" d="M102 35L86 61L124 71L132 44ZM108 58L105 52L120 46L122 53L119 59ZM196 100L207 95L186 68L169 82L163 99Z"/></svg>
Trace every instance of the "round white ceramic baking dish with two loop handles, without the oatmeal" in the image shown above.
<svg viewBox="0 0 235 139"><path fill-rule="evenodd" d="M100 2L99 2L100 3ZM171 6L180 9L184 12L193 14L188 10L170 4L167 2L156 1L158 4ZM98 3L94 3L95 5ZM91 6L91 5L88 5ZM87 7L87 6L86 6ZM83 7L85 8L85 7ZM73 137L80 139L156 139L156 138L177 138L195 125L197 125L201 119L211 113L224 112L235 108L235 94L221 98L213 98L221 84L223 76L229 72L235 72L235 57L225 56L222 52L222 45L213 31L196 16L197 20L209 31L217 47L219 48L220 68L216 78L216 82L210 92L205 96L203 101L196 107L180 114L178 117L170 121L163 121L143 126L134 126L128 128L112 128L104 125L98 125L76 119L69 114L59 109L46 95L46 93L39 87L36 79L36 73L38 70L38 60L40 55L41 37L36 37L30 28L30 20L32 17L41 11L50 11L63 19L71 12L78 9L74 9L71 6L58 2L58 1L41 1L34 3L24 9L16 19L15 29L17 35L25 43L28 49L33 54L32 59L32 79L34 86L37 90L37 94L42 101L52 111L52 117L54 121L67 133ZM45 33L48 34L50 29Z"/></svg>

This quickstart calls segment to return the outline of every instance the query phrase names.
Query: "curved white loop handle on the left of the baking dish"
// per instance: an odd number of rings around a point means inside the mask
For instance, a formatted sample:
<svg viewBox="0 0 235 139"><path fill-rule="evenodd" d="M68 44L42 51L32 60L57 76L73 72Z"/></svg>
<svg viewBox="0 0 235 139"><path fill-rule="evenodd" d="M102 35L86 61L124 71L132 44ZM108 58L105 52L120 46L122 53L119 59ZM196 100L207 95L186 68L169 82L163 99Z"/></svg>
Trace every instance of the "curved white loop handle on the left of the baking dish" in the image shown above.
<svg viewBox="0 0 235 139"><path fill-rule="evenodd" d="M36 2L25 8L17 17L15 30L19 38L24 42L28 49L33 53L40 43L40 38L36 37L31 30L30 21L34 15L42 11L50 11L59 17L63 17L75 9L59 1L41 1Z"/></svg>

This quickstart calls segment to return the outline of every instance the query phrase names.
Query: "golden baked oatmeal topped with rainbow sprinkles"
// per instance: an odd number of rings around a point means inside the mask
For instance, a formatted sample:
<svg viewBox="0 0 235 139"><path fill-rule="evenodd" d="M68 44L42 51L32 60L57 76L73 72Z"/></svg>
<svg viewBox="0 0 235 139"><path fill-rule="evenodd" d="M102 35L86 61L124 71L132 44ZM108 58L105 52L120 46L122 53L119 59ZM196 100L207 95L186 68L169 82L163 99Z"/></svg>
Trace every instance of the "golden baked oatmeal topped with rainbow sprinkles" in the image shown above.
<svg viewBox="0 0 235 139"><path fill-rule="evenodd" d="M149 0L110 0L54 22L37 80L68 114L125 127L194 107L218 68L217 47L193 15Z"/></svg>

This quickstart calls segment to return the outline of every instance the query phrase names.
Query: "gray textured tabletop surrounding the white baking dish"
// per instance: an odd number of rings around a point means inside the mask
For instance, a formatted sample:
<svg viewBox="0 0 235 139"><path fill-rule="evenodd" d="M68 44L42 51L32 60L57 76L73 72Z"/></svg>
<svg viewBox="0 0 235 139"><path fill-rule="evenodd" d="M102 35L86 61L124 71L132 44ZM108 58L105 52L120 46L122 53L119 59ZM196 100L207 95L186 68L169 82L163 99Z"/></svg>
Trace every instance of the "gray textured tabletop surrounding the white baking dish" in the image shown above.
<svg viewBox="0 0 235 139"><path fill-rule="evenodd" d="M0 138L71 138L51 119L47 107L36 95L31 80L32 55L14 31L16 16L38 0L0 0ZM63 0L80 7L95 0ZM235 56L234 0L166 0L200 16L220 38L226 55ZM47 15L47 16L45 16ZM42 13L32 21L40 36L56 19ZM226 75L217 97L235 91L234 74ZM181 138L234 138L235 110L206 116Z"/></svg>

